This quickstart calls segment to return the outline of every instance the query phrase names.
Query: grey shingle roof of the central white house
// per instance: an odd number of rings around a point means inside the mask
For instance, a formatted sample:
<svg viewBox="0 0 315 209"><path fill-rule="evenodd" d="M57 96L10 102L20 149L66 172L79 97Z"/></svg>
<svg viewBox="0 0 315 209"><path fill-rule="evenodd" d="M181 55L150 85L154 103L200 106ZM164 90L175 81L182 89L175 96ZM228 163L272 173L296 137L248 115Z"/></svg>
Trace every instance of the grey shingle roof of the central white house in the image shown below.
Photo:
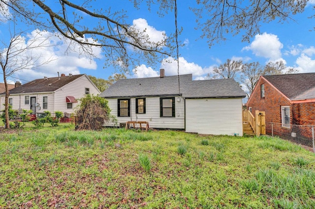
<svg viewBox="0 0 315 209"><path fill-rule="evenodd" d="M245 97L234 79L192 80L192 75L121 79L103 91L105 98L182 95L186 98Z"/></svg>

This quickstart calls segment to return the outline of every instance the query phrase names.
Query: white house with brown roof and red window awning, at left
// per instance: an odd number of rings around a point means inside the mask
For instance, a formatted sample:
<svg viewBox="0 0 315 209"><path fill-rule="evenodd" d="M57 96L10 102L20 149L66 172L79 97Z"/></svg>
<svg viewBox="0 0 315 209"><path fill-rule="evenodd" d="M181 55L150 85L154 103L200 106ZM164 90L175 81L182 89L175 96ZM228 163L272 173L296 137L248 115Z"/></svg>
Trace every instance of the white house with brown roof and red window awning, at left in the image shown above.
<svg viewBox="0 0 315 209"><path fill-rule="evenodd" d="M9 104L12 109L32 109L33 113L62 111L72 113L78 104L77 99L86 94L99 94L100 91L85 75L61 74L60 77L40 78L17 86L9 91ZM0 94L4 104L5 93ZM0 105L0 110L4 105Z"/></svg>

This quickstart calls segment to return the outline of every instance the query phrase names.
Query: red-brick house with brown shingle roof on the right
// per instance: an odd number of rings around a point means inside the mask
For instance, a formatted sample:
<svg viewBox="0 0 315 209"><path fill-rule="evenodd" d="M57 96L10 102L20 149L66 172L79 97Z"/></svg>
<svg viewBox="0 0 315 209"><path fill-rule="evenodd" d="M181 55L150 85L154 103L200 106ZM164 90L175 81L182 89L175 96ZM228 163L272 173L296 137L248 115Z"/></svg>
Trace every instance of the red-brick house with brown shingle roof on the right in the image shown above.
<svg viewBox="0 0 315 209"><path fill-rule="evenodd" d="M252 113L265 111L266 123L315 125L315 73L261 76L247 102ZM270 133L270 126L266 132Z"/></svg>

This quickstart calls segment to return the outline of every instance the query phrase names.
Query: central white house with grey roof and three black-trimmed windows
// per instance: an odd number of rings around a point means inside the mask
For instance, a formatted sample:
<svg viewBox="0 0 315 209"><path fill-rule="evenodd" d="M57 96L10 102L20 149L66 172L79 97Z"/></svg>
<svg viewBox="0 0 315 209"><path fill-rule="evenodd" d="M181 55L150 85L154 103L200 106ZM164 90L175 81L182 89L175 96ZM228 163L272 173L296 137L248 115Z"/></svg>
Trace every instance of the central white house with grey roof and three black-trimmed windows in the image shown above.
<svg viewBox="0 0 315 209"><path fill-rule="evenodd" d="M150 128L243 135L244 91L234 79L192 80L192 75L121 79L99 96L118 124L147 121ZM106 126L116 126L107 123Z"/></svg>

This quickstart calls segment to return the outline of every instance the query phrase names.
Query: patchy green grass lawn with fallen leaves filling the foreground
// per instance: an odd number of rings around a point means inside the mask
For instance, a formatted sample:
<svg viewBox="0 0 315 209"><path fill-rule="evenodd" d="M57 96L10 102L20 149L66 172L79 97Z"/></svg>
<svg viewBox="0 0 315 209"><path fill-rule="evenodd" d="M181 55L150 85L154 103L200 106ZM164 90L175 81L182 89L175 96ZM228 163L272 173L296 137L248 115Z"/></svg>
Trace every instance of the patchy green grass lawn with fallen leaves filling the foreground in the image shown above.
<svg viewBox="0 0 315 209"><path fill-rule="evenodd" d="M272 137L0 132L0 208L315 208L315 154Z"/></svg>

